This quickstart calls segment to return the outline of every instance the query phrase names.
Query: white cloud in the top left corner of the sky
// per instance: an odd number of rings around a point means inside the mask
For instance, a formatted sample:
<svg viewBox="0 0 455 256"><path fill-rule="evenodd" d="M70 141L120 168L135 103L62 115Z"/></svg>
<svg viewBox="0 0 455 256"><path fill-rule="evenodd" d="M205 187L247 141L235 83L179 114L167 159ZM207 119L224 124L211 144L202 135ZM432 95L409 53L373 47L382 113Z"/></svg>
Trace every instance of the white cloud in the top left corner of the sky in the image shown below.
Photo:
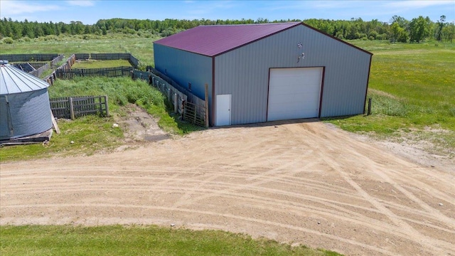
<svg viewBox="0 0 455 256"><path fill-rule="evenodd" d="M56 11L62 9L55 4L43 4L31 1L1 0L0 10L2 17L16 16L20 14L33 14L41 11Z"/></svg>

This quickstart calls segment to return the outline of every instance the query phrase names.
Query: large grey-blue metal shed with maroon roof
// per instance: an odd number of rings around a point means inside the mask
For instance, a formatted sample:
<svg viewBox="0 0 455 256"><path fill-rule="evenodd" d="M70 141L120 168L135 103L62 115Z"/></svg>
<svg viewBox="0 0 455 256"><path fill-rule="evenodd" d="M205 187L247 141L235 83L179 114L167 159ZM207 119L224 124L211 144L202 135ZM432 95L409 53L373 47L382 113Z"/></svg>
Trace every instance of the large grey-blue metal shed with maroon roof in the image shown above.
<svg viewBox="0 0 455 256"><path fill-rule="evenodd" d="M372 53L300 22L198 26L154 42L155 68L213 126L361 114Z"/></svg>

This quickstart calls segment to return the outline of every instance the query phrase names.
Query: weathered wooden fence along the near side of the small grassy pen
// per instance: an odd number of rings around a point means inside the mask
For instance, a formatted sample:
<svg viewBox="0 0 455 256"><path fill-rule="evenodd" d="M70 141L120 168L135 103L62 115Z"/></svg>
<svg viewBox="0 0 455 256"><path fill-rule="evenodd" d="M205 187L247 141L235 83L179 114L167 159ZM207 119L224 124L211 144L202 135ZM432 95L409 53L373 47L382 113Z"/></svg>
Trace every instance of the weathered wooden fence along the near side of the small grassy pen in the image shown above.
<svg viewBox="0 0 455 256"><path fill-rule="evenodd" d="M70 70L57 69L55 77L59 79L73 79L75 77L100 77L109 78L131 75L132 67L117 67L117 68L72 68Z"/></svg>

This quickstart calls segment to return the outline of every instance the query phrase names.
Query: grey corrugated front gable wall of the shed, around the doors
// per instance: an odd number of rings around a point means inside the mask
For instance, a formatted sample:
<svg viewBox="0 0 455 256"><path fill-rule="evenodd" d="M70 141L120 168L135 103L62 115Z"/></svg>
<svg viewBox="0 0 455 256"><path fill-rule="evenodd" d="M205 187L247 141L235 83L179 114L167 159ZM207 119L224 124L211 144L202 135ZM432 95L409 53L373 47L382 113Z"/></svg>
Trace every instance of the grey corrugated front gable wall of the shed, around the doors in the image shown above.
<svg viewBox="0 0 455 256"><path fill-rule="evenodd" d="M303 25L215 57L215 95L232 95L232 124L265 122L269 68L303 67L325 67L321 117L363 113L370 54Z"/></svg>

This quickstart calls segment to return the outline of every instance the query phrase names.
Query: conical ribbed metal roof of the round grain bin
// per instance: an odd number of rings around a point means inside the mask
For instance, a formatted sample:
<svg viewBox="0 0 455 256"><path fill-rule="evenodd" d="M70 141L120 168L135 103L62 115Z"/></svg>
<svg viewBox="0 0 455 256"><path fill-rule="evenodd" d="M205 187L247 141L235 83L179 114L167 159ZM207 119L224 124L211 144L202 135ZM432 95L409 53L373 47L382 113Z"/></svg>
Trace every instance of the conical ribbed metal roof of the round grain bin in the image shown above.
<svg viewBox="0 0 455 256"><path fill-rule="evenodd" d="M31 92L49 84L9 64L0 64L0 95Z"/></svg>

